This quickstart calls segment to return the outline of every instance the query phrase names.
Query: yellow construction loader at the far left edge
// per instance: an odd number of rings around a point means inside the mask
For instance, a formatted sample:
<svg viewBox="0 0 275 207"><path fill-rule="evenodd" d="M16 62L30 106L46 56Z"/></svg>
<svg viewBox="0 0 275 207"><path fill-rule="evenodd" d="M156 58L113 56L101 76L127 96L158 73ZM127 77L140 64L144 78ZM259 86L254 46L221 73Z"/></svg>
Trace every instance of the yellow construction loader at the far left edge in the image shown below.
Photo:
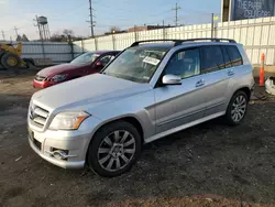
<svg viewBox="0 0 275 207"><path fill-rule="evenodd" d="M34 61L31 58L21 58L22 43L18 43L16 46L12 44L0 43L0 66L4 69L18 68L18 67L32 67Z"/></svg>

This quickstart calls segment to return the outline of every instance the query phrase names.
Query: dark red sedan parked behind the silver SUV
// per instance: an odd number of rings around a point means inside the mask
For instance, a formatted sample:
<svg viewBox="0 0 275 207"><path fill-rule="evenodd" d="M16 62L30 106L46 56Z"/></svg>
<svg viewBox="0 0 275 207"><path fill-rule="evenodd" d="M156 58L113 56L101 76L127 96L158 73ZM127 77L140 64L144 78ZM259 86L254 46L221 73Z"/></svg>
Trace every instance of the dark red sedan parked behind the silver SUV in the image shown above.
<svg viewBox="0 0 275 207"><path fill-rule="evenodd" d="M36 74L33 87L46 88L63 81L99 73L118 53L119 51L88 52L68 64L46 67Z"/></svg>

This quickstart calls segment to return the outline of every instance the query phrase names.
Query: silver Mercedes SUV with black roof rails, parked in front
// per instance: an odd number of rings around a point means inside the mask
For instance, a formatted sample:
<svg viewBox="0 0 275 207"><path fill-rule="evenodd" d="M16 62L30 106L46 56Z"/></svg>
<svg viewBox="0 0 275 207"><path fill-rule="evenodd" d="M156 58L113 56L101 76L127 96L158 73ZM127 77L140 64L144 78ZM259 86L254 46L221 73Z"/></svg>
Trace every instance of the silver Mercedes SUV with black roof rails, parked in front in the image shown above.
<svg viewBox="0 0 275 207"><path fill-rule="evenodd" d="M136 162L143 143L218 117L230 124L243 120L254 79L242 45L160 42L135 42L100 74L34 94L32 149L64 168L87 165L118 176Z"/></svg>

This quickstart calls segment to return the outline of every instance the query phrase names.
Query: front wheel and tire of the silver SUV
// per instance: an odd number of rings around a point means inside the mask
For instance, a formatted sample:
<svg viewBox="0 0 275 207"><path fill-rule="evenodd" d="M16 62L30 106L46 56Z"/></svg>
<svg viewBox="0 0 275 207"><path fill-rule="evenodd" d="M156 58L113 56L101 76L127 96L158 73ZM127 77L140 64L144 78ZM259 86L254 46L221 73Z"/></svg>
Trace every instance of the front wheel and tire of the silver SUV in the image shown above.
<svg viewBox="0 0 275 207"><path fill-rule="evenodd" d="M117 142L116 137L119 138ZM130 171L140 153L141 135L136 128L118 121L102 127L95 134L88 149L87 164L100 176L116 177Z"/></svg>

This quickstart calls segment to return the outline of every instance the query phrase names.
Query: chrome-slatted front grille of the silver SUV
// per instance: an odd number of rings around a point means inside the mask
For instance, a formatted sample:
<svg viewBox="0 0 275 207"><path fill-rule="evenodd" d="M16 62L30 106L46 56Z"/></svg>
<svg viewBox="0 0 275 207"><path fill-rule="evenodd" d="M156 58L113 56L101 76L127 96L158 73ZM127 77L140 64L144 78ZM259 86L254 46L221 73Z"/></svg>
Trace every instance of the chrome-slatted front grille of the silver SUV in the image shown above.
<svg viewBox="0 0 275 207"><path fill-rule="evenodd" d="M47 110L35 105L30 106L29 118L34 126L41 129L44 128L44 126L46 124L47 117Z"/></svg>

